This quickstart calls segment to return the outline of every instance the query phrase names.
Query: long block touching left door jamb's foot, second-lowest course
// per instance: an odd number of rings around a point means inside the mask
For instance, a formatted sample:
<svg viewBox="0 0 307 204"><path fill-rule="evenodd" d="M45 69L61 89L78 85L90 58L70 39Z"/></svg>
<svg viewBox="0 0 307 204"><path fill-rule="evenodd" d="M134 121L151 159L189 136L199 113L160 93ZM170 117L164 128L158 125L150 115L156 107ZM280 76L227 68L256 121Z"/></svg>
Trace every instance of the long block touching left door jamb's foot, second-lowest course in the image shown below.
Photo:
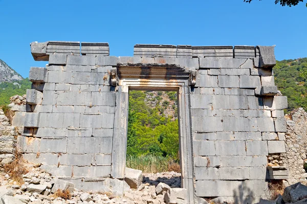
<svg viewBox="0 0 307 204"><path fill-rule="evenodd" d="M76 166L75 177L107 177L111 174L111 166Z"/></svg>

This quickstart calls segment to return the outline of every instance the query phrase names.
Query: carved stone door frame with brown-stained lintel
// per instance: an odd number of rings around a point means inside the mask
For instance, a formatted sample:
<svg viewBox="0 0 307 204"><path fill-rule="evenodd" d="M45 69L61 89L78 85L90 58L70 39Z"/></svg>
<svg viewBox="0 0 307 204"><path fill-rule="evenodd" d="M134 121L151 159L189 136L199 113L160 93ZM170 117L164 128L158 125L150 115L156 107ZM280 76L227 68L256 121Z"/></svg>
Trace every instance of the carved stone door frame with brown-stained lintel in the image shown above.
<svg viewBox="0 0 307 204"><path fill-rule="evenodd" d="M149 70L149 71L148 71ZM124 179L127 149L129 90L177 91L181 187L187 189L188 203L194 203L193 150L190 113L191 71L168 67L117 67L117 97L113 134L111 176ZM148 72L143 74L144 72ZM139 78L138 78L139 77ZM143 78L143 79L142 79ZM144 79L147 78L147 79Z"/></svg>

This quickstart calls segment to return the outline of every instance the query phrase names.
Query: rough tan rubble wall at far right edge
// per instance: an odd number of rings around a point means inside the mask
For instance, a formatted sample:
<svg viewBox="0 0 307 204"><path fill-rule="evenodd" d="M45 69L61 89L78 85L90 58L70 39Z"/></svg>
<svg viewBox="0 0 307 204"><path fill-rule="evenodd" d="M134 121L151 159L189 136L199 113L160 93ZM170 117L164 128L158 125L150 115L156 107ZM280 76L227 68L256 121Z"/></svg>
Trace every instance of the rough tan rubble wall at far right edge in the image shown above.
<svg viewBox="0 0 307 204"><path fill-rule="evenodd" d="M281 155L284 165L289 168L290 185L297 182L307 184L307 173L303 169L304 163L307 162L307 113L298 108L292 111L287 117L287 134L286 134L286 153Z"/></svg>

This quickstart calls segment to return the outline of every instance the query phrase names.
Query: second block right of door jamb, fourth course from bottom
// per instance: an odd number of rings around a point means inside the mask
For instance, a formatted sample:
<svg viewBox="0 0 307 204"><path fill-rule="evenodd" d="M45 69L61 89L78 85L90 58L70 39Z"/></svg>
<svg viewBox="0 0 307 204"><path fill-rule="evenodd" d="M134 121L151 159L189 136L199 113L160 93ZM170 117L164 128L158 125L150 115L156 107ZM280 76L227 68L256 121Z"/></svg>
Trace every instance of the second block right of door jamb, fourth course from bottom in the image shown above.
<svg viewBox="0 0 307 204"><path fill-rule="evenodd" d="M215 141L216 156L245 156L244 141Z"/></svg>

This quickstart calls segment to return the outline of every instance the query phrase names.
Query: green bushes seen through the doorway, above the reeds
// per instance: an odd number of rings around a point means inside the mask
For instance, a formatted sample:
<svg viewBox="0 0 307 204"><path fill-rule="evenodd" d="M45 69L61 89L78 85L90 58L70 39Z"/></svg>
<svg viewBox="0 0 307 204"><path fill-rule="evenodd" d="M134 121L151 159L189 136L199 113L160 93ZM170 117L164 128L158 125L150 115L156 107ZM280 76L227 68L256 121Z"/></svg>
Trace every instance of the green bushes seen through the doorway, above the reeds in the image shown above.
<svg viewBox="0 0 307 204"><path fill-rule="evenodd" d="M150 95L144 91L129 91L127 156L152 155L178 160L178 119L166 117L165 109L159 104L148 106L146 94ZM157 95L162 99L163 92L159 91ZM162 104L166 107L169 101L164 100Z"/></svg>

